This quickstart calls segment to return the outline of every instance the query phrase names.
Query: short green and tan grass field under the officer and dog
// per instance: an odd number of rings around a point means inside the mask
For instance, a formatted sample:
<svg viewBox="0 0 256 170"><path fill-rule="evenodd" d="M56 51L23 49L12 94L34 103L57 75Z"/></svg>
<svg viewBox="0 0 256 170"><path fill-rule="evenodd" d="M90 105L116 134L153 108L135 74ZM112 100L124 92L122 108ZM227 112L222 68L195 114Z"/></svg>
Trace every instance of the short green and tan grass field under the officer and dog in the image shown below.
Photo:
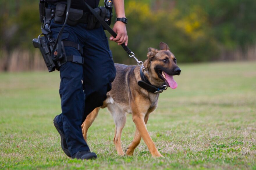
<svg viewBox="0 0 256 170"><path fill-rule="evenodd" d="M88 131L97 160L73 160L60 147L59 73L0 73L0 169L256 169L256 62L179 65L177 89L160 94L147 128L164 158L141 144L119 157L114 123L102 109ZM122 147L132 141L131 115Z"/></svg>

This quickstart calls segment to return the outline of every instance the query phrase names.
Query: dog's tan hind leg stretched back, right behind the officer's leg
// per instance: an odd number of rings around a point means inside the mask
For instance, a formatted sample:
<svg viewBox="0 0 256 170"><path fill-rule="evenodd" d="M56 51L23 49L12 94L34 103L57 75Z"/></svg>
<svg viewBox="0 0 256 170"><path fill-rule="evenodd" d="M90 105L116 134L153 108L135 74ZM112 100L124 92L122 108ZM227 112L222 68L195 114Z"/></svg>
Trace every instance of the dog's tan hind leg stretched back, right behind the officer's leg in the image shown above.
<svg viewBox="0 0 256 170"><path fill-rule="evenodd" d="M100 107L95 108L88 116L86 117L85 121L82 124L82 133L83 133L83 138L86 141L87 140L87 131L89 127L93 124L93 121L97 117L99 113Z"/></svg>

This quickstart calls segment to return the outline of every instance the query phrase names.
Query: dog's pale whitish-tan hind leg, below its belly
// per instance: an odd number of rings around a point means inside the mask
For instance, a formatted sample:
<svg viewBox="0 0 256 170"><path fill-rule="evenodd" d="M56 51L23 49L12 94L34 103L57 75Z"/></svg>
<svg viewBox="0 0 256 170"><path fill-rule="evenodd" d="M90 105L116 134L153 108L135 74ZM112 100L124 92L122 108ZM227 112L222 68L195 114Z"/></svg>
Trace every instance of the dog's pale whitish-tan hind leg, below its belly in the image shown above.
<svg viewBox="0 0 256 170"><path fill-rule="evenodd" d="M109 104L108 109L111 112L115 122L115 136L113 141L114 141L117 153L120 156L124 156L125 153L121 145L121 135L122 135L122 130L126 123L126 113L122 111L115 104Z"/></svg>

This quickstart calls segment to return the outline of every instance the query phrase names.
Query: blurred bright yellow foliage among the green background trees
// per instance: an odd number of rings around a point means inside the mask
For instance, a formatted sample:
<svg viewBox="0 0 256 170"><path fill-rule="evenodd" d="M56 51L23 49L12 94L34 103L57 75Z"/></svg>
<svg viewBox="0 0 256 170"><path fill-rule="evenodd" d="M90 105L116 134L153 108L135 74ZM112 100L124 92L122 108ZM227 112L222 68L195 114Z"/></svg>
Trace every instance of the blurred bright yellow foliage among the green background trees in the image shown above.
<svg viewBox="0 0 256 170"><path fill-rule="evenodd" d="M195 40L205 36L203 25L207 21L203 10L198 6L193 6L187 15L179 12L177 8L171 11L157 10L152 11L148 3L131 0L126 6L126 15L128 18L136 18L138 22L150 22L158 24L159 19L166 19L166 22L183 30L184 34ZM168 29L168 24L166 25Z"/></svg>

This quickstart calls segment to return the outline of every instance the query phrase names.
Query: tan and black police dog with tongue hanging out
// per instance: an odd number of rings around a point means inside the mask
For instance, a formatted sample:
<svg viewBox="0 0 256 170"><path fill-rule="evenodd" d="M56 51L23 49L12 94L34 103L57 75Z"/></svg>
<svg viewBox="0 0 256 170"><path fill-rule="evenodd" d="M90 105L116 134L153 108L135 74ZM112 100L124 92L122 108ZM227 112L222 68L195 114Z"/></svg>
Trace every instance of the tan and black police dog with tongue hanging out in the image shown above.
<svg viewBox="0 0 256 170"><path fill-rule="evenodd" d="M173 76L179 75L181 70L177 66L175 56L165 43L160 42L160 50L148 48L144 66L145 70L149 72L147 74L144 70L144 75L152 85L161 86L165 83L172 89L177 87ZM112 83L112 89L107 93L107 99L101 108L107 107L114 118L114 144L118 155L133 155L134 149L139 145L142 137L153 157L163 157L157 150L146 127L149 114L157 108L159 93L148 92L138 85L138 81L141 80L139 66L115 64L115 68L117 73ZM99 109L100 107L94 109L82 124L85 140L88 128L92 125ZM136 132L133 141L124 153L121 146L121 134L126 122L126 113L132 114Z"/></svg>

